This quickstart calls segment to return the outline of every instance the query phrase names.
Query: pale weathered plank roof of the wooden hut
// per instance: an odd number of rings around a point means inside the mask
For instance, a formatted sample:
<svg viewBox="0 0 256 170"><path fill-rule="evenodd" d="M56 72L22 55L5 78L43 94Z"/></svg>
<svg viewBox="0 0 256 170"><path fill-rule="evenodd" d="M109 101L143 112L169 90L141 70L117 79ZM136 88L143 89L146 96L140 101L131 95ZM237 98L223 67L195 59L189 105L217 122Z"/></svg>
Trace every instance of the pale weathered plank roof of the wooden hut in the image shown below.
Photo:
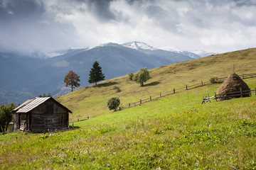
<svg viewBox="0 0 256 170"><path fill-rule="evenodd" d="M32 111L34 108L38 107L39 105L41 105L42 103L48 101L49 99L52 99L53 101L55 101L54 98L52 97L44 97L44 98L33 98L33 99L29 99L28 101L25 101L24 103L22 103L20 106L18 106L17 108L14 108L13 111L15 111L16 113L28 113L29 111ZM55 101L56 103L58 103L58 101ZM66 108L65 106L63 106L62 104L58 103L60 106L62 106L63 108ZM68 110L69 113L72 113L72 111L70 111L68 108L66 108Z"/></svg>

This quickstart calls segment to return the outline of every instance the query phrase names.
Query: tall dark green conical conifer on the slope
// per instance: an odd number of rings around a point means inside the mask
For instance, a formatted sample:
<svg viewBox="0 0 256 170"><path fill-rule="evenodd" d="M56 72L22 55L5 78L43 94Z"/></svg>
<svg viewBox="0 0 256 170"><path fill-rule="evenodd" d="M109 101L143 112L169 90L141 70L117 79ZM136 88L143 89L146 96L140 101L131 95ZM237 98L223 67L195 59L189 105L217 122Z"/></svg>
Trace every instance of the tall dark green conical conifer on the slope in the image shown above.
<svg viewBox="0 0 256 170"><path fill-rule="evenodd" d="M97 82L102 80L105 80L105 75L102 73L102 67L100 67L99 62L95 61L92 64L88 82L90 84L95 83L95 85L97 86Z"/></svg>

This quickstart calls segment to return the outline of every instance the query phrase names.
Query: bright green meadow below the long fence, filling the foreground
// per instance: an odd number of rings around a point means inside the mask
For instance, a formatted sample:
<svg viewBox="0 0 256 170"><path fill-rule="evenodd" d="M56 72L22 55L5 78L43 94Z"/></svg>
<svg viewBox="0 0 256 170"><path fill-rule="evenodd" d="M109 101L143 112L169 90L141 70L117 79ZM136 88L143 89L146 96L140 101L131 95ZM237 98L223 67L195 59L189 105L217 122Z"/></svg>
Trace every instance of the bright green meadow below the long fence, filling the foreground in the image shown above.
<svg viewBox="0 0 256 170"><path fill-rule="evenodd" d="M0 168L256 168L256 96L201 105L219 85L75 123L78 130L1 135Z"/></svg>

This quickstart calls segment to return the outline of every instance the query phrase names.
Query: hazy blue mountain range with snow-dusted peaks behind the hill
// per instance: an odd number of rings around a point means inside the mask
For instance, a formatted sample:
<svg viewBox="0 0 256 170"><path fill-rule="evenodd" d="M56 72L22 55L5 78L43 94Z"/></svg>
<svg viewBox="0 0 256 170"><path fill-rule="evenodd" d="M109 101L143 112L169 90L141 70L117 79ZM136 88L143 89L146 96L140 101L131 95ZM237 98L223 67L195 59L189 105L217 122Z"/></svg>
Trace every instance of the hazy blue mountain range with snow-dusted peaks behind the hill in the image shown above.
<svg viewBox="0 0 256 170"><path fill-rule="evenodd" d="M70 70L80 76L80 88L88 86L90 68L97 60L106 79L152 69L166 64L215 55L203 51L171 51L151 47L144 42L106 43L96 47L70 48L33 56L0 53L0 104L23 103L28 98L50 93L67 94L63 79Z"/></svg>

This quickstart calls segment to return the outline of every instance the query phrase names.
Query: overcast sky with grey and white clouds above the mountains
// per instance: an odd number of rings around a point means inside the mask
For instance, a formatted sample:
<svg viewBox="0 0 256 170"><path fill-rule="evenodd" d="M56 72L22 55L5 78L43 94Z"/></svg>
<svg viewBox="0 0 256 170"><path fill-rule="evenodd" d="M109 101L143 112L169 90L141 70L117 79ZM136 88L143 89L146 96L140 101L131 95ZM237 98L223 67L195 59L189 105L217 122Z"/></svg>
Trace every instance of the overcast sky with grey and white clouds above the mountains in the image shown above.
<svg viewBox="0 0 256 170"><path fill-rule="evenodd" d="M256 1L0 0L0 52L129 41L208 52L256 47Z"/></svg>

